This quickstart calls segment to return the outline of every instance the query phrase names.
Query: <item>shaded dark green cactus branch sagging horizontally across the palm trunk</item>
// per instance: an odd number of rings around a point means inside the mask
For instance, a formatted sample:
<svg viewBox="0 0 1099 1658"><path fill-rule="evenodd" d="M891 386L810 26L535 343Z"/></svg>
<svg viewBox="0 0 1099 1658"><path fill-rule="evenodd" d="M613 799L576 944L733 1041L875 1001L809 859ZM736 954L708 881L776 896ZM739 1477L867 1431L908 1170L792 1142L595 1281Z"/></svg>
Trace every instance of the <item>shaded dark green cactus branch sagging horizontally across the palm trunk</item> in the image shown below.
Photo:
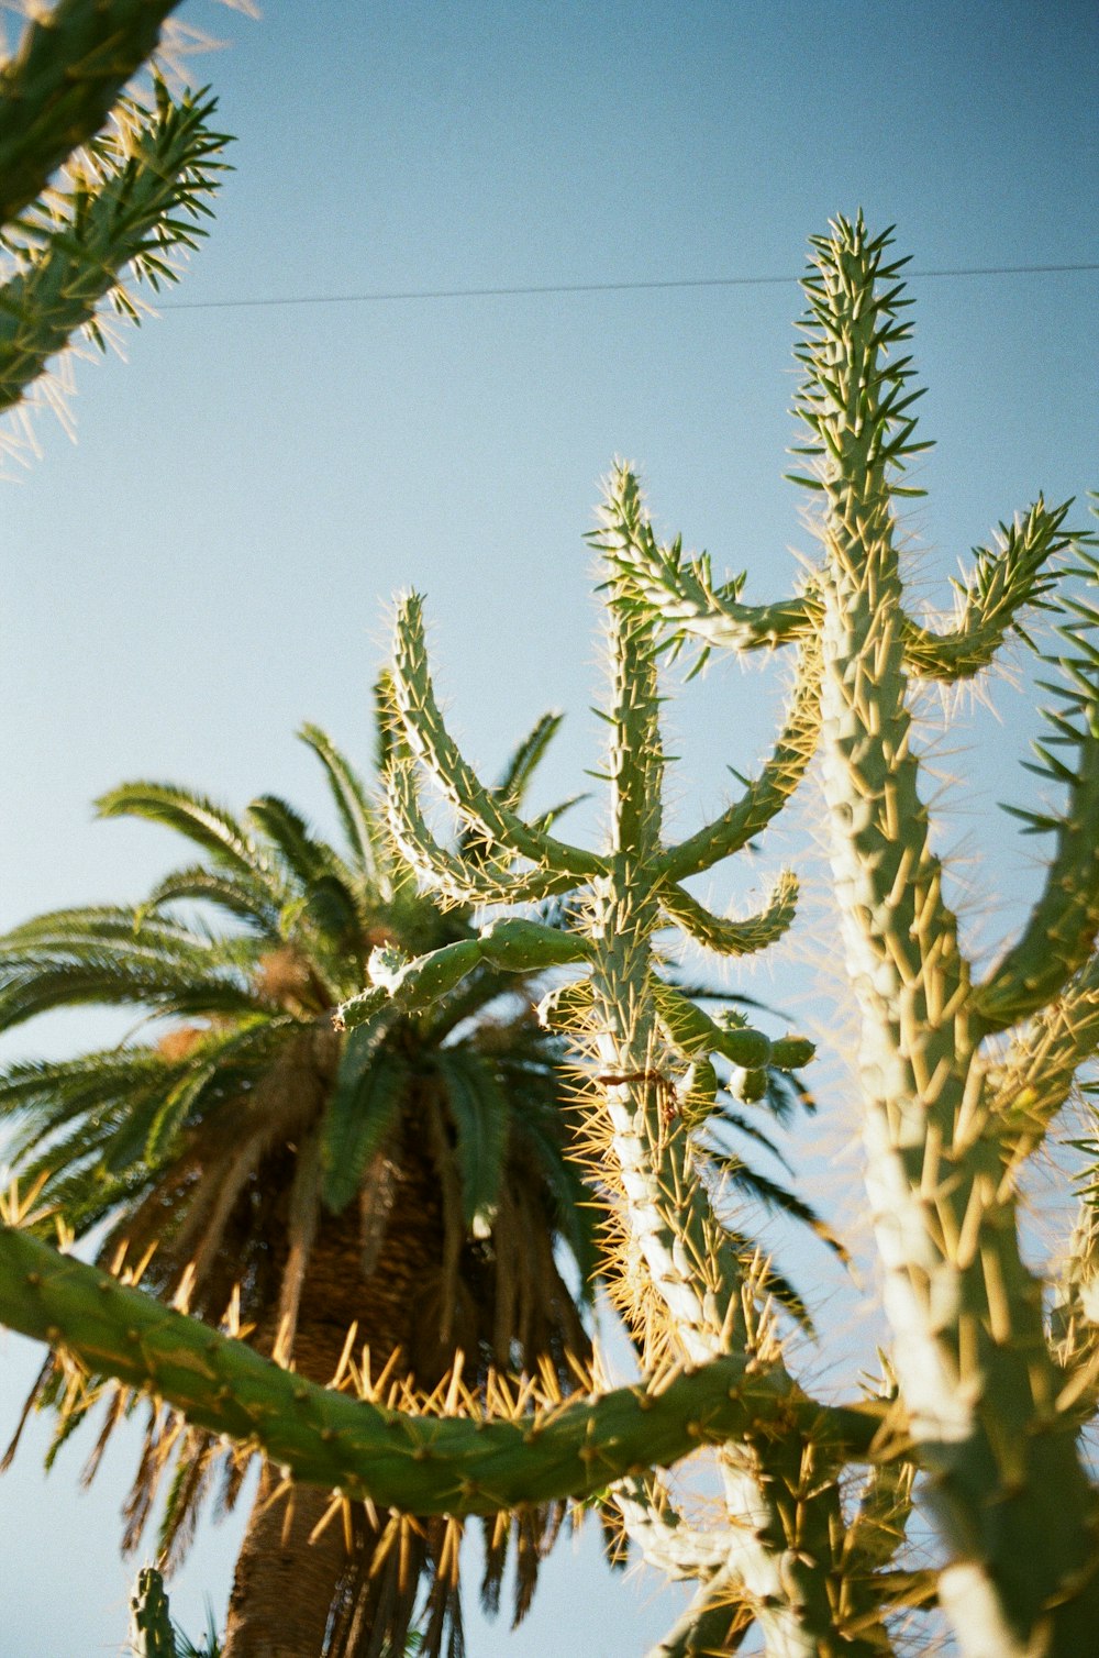
<svg viewBox="0 0 1099 1658"><path fill-rule="evenodd" d="M874 1408L819 1406L741 1356L516 1421L390 1409L308 1383L10 1225L0 1225L0 1321L154 1393L197 1428L255 1444L308 1484L413 1514L592 1496L754 1421L802 1426L867 1457L880 1424Z"/></svg>

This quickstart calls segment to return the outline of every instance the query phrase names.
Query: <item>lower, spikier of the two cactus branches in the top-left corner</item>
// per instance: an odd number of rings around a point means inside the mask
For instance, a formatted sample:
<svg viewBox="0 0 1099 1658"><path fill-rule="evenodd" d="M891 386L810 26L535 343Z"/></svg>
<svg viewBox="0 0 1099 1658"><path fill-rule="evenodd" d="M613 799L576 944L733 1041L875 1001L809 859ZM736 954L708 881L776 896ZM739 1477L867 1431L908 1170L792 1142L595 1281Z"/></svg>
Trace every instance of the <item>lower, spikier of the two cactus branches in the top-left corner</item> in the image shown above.
<svg viewBox="0 0 1099 1658"><path fill-rule="evenodd" d="M96 139L71 192L51 212L25 221L15 275L0 288L0 410L27 388L80 328L101 343L96 305L113 297L133 320L121 288L126 269L153 285L172 279L166 255L206 232L187 222L209 212L227 139L209 129L212 101L174 104L157 85L156 113L123 106L133 131Z"/></svg>

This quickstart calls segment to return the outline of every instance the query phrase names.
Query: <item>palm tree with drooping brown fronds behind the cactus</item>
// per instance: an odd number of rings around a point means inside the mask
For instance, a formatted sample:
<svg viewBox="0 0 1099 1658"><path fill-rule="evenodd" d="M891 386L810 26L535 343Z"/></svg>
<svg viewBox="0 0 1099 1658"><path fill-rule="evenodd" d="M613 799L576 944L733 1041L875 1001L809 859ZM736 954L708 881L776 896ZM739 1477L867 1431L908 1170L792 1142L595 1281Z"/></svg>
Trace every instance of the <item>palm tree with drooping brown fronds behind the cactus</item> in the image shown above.
<svg viewBox="0 0 1099 1658"><path fill-rule="evenodd" d="M517 801L557 726L539 721L501 779ZM385 720L380 716L381 746ZM378 943L421 953L472 933L461 909L421 897L376 802L317 726L317 754L343 829L320 839L265 794L237 817L187 789L151 783L106 794L99 812L164 824L199 859L136 907L70 909L0 943L0 1028L81 1003L133 1006L144 1040L73 1059L12 1064L0 1111L10 1156L96 1258L220 1323L310 1379L336 1371L348 1330L375 1374L433 1389L464 1356L469 1384L491 1366L549 1366L575 1386L588 1351L583 1290L590 1209L564 1152L565 1071L534 1015L530 985L481 970L429 1013L340 1035L333 1008L365 982ZM476 857L477 849L462 847ZM51 1222L46 1222L51 1224ZM114 1386L66 1391L48 1361L31 1406L60 1411L56 1446L99 1394L113 1426L134 1409ZM18 1439L18 1434L17 1434ZM230 1507L247 1457L174 1413L149 1408L124 1515L134 1547L172 1467L159 1559L172 1565L220 1472ZM375 1658L399 1651L418 1585L423 1653L461 1651L456 1572L443 1522L393 1534L355 1512L327 1525L327 1492L278 1489L264 1469L237 1562L225 1658ZM516 1522L516 1615L529 1605L560 1514ZM348 1547L350 1544L350 1547ZM482 1593L499 1598L506 1542L487 1550Z"/></svg>

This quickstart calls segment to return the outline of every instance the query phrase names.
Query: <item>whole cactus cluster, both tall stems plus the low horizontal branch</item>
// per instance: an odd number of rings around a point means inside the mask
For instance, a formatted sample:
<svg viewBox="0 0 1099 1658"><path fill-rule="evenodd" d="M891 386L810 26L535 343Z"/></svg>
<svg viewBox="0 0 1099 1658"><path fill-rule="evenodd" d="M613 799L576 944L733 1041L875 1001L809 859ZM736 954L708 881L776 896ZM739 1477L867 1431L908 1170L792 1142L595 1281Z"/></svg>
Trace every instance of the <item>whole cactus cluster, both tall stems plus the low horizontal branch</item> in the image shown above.
<svg viewBox="0 0 1099 1658"><path fill-rule="evenodd" d="M716 584L708 559L660 545L635 476L615 471L593 537L612 663L602 851L569 846L481 784L439 713L421 602L398 615L393 836L444 900L520 914L419 957L375 950L340 1021L416 1015L471 973L557 970L542 1013L587 1066L587 1154L613 1204L610 1270L641 1383L562 1401L532 1379L499 1381L482 1398L456 1371L423 1399L348 1355L343 1386L318 1388L58 1255L15 1212L0 1227L0 1320L51 1343L75 1374L116 1376L264 1449L287 1477L330 1487L333 1514L355 1500L390 1509L393 1537L409 1512L448 1515L456 1547L467 1515L615 1502L653 1563L698 1583L650 1658L736 1650L751 1623L771 1658L887 1655L893 1615L933 1595L966 1658L1069 1658L1089 1650L1099 1615L1099 1514L1081 1449L1097 1394L1094 1194L1081 1199L1049 1328L1018 1210L1028 1161L1099 1046L1099 612L1064 584L1094 582L1099 560L1068 507L1039 501L976 550L953 627L905 613L895 501L912 492L903 468L922 444L910 360L893 355L908 335L898 265L862 219L812 245L797 405L812 441L799 481L824 512L824 559L792 597L751 605L744 577ZM1054 836L1053 857L1018 938L981 975L930 849L908 681L971 678L1011 633L1036 648L1036 608L1061 625L1038 769L1066 794L1059 809L1019 814ZM666 846L658 665L688 642L792 647L797 671L767 763L713 822ZM729 1084L751 1106L811 1048L711 1016L653 947L676 928L743 953L789 927L792 875L748 922L713 915L685 882L766 829L814 753L860 1006L867 1189L893 1335L880 1396L845 1404L791 1374L761 1305L776 1277L723 1227L708 1169ZM434 837L424 773L459 819L461 856ZM714 1447L723 1477L724 1524L704 1530L676 1512L660 1472L698 1446ZM937 1572L903 1554L913 1491L938 1529Z"/></svg>

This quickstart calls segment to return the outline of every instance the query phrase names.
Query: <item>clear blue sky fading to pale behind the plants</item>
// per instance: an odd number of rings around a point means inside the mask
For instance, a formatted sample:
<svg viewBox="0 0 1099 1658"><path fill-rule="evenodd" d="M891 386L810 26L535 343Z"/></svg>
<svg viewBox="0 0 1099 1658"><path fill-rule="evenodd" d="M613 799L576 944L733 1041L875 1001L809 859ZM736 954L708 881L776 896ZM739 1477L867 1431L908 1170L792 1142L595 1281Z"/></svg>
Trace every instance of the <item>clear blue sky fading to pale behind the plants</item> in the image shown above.
<svg viewBox="0 0 1099 1658"><path fill-rule="evenodd" d="M323 821L293 731L318 721L366 764L401 587L428 595L471 756L492 769L562 706L545 797L582 786L600 686L582 534L613 456L640 464L658 529L749 569L749 595L787 590L789 549L811 550L781 479L791 323L806 237L835 212L897 224L913 255L938 443L908 521L925 597L945 602L956 557L1038 491L1099 487L1099 274L920 275L1099 260L1094 0L181 15L230 38L196 73L239 138L237 171L184 284L128 335L129 361L76 365L76 444L41 418L41 459L3 484L0 925L136 899L164 869L157 831L91 821L123 779L235 806L283 793ZM716 277L789 280L340 300ZM298 303L244 303L283 298ZM678 708L685 819L718 804L726 764L759 756L779 680L726 668ZM1024 749L1029 698L1003 708L963 763L966 781L990 769L951 826L995 854L970 872L986 907L1029 879L991 809L1024 797L1003 763ZM797 862L792 832L782 852ZM774 867L764 856L758 879ZM821 938L802 925L809 955ZM88 1028L55 1021L20 1051ZM33 1363L0 1336L0 1431ZM91 1496L81 1461L71 1447L43 1482L31 1444L0 1481L5 1658L123 1640L129 1459L119 1447ZM196 1631L204 1588L220 1613L234 1547L235 1529L207 1532L179 1578ZM671 1608L564 1557L519 1636L471 1618L471 1655L627 1658Z"/></svg>

